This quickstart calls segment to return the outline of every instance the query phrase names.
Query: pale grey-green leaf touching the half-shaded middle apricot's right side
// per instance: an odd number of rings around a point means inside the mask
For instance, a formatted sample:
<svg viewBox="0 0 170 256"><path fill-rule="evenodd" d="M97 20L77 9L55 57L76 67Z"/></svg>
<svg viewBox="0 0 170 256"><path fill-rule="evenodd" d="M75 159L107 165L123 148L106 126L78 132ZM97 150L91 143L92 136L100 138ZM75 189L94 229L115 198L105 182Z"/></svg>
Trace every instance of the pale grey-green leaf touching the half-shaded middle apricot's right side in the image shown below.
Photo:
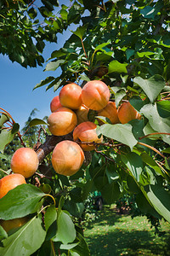
<svg viewBox="0 0 170 256"><path fill-rule="evenodd" d="M101 125L97 127L97 133L103 134L105 137L110 137L117 142L123 143L133 149L138 141L133 136L133 126L130 124L116 124L116 125Z"/></svg>

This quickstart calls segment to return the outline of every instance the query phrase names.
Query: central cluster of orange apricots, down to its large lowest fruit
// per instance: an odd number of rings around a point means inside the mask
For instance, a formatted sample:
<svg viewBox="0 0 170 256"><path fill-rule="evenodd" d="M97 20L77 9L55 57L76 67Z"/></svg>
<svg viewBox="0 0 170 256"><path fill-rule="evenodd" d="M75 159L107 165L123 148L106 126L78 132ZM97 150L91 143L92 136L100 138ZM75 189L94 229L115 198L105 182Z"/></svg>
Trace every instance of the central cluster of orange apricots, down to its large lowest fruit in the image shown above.
<svg viewBox="0 0 170 256"><path fill-rule="evenodd" d="M55 172L65 176L75 174L82 166L83 152L94 150L96 143L102 143L102 137L96 133L97 125L88 120L89 109L110 119L112 124L139 119L139 113L129 102L122 102L117 109L110 97L108 86L100 80L89 81L83 88L75 83L66 84L59 96L54 97L50 103L49 131L54 136L73 132L73 141L64 140L54 148L52 164Z"/></svg>

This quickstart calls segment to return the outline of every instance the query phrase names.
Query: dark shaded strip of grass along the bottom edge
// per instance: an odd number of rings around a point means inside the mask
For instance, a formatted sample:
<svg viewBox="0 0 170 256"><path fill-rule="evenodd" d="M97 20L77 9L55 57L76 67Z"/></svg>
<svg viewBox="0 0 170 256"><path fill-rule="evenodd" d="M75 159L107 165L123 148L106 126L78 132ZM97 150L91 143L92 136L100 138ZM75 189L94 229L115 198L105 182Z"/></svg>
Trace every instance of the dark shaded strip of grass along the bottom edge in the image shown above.
<svg viewBox="0 0 170 256"><path fill-rule="evenodd" d="M166 236L162 242L153 242L153 236L148 231L115 230L105 235L88 236L88 246L91 256L103 255L170 255L170 239Z"/></svg>

